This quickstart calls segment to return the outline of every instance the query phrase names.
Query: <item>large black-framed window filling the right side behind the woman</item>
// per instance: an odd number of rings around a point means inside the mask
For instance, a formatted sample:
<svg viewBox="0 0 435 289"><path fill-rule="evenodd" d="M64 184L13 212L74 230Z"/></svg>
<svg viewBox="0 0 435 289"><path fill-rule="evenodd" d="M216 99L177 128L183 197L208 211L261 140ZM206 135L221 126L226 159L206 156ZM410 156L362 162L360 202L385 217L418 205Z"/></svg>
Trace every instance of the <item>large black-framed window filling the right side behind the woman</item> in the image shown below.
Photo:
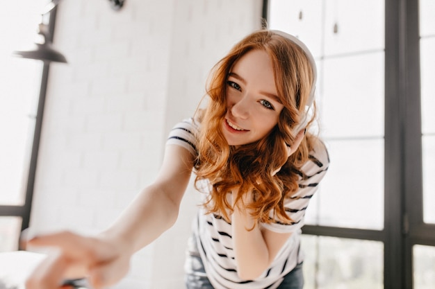
<svg viewBox="0 0 435 289"><path fill-rule="evenodd" d="M269 28L299 37L318 64L331 164L306 213L306 288L430 288L434 1L263 3Z"/></svg>

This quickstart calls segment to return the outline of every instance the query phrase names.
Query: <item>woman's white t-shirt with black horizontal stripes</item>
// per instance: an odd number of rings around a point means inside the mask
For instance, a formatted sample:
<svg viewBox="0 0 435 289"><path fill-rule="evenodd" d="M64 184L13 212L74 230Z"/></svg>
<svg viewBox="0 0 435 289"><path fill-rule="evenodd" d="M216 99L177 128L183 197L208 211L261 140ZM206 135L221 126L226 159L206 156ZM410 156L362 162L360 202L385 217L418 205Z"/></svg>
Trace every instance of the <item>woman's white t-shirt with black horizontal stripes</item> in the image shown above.
<svg viewBox="0 0 435 289"><path fill-rule="evenodd" d="M183 146L196 157L195 134L198 128L197 123L193 122L192 119L186 119L178 123L171 130L167 144ZM302 166L299 173L299 191L284 204L286 212L293 222L283 224L279 220L274 220L269 224L260 224L271 231L293 234L281 248L270 268L255 280L247 281L238 277L231 239L231 224L220 216L206 214L204 209L199 209L197 220L194 222L194 231L207 277L214 288L277 288L283 277L302 262L303 256L302 252L299 251L299 238L301 228L304 225L305 210L328 166L327 149L322 143L319 143L318 147L310 152L309 161ZM205 193L204 195L210 193L211 184L206 181L202 182L199 191ZM273 212L271 212L270 216L274 219Z"/></svg>

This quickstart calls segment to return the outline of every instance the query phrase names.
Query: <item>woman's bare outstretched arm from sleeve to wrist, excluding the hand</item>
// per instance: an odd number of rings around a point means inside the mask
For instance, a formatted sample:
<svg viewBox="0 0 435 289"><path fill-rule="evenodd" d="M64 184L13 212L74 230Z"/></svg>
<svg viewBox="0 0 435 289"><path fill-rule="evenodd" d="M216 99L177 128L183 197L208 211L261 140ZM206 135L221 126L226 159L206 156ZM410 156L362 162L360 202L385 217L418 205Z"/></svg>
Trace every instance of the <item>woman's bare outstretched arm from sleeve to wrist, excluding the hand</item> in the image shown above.
<svg viewBox="0 0 435 289"><path fill-rule="evenodd" d="M192 166L193 157L188 150L181 146L167 146L156 182L147 186L101 236L136 252L172 227L178 217Z"/></svg>

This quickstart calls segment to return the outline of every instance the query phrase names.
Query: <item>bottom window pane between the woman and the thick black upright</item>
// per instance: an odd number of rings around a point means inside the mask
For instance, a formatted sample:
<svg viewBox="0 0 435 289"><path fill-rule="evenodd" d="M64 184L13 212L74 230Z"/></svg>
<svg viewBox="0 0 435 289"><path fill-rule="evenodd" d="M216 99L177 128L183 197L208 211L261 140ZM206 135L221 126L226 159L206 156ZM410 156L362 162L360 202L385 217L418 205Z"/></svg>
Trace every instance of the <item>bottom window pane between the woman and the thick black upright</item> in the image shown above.
<svg viewBox="0 0 435 289"><path fill-rule="evenodd" d="M384 288L384 245L369 240L302 236L305 289Z"/></svg>

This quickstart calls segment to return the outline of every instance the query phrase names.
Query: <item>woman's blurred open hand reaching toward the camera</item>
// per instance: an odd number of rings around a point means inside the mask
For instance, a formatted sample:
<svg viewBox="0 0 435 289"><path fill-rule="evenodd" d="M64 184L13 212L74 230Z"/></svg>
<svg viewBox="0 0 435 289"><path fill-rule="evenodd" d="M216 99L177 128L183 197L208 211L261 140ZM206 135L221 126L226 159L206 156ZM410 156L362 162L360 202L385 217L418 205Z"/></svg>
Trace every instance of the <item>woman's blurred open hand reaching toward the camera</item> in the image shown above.
<svg viewBox="0 0 435 289"><path fill-rule="evenodd" d="M129 270L131 254L109 240L85 237L70 231L37 236L27 246L52 247L26 280L26 289L58 289L65 279L88 278L92 288L120 281Z"/></svg>

